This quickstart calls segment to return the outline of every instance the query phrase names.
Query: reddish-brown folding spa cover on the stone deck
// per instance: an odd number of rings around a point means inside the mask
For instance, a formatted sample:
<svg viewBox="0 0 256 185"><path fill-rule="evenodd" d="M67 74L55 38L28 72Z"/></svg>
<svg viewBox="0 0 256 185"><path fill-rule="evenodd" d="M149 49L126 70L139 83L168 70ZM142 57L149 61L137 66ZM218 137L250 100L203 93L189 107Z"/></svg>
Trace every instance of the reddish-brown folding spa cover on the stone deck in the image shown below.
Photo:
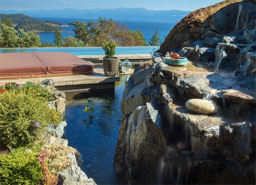
<svg viewBox="0 0 256 185"><path fill-rule="evenodd" d="M0 54L0 79L31 75L93 73L94 65L71 53L29 52Z"/></svg>

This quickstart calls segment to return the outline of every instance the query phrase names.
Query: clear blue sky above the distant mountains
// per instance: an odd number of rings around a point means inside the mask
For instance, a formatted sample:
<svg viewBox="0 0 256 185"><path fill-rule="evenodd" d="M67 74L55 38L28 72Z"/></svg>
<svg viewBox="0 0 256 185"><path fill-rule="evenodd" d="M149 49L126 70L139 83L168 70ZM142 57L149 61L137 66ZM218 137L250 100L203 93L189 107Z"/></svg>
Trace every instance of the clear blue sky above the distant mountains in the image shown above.
<svg viewBox="0 0 256 185"><path fill-rule="evenodd" d="M220 0L0 0L0 11L37 9L114 9L144 7L148 10L193 11L214 5Z"/></svg>

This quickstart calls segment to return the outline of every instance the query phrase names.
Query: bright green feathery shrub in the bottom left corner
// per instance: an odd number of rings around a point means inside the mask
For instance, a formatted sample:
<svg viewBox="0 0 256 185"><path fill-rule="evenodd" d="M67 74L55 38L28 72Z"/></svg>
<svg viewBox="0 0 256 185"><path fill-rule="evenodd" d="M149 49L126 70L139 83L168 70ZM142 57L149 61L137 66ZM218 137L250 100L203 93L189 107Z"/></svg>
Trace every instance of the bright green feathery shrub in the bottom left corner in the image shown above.
<svg viewBox="0 0 256 185"><path fill-rule="evenodd" d="M12 151L0 155L0 184L39 184L43 177L42 167L35 152Z"/></svg>

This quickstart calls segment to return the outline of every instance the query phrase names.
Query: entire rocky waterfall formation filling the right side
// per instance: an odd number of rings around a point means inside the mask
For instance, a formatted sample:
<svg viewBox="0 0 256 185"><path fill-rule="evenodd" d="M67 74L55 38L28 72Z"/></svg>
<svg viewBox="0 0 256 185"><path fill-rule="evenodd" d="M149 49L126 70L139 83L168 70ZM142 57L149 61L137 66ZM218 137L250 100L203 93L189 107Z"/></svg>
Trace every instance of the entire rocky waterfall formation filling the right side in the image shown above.
<svg viewBox="0 0 256 185"><path fill-rule="evenodd" d="M179 30L178 23L157 51L154 65L138 67L127 79L115 168L129 183L255 184L255 13L255 1L232 3L203 23L197 40L189 29ZM189 61L214 65L216 70L173 70L162 63L167 52L179 52ZM200 99L201 103L191 111L185 106L189 99ZM198 111L205 104L203 100L212 100L218 106L210 110L214 114ZM131 150L124 148L130 146L133 136L133 132L127 132L132 130L127 124L131 115L138 114L138 106L149 102L158 104L154 109L162 119L152 119L148 126L160 128L167 147L165 155L148 153L143 160L137 152L127 153ZM132 124L134 131L137 124ZM146 139L146 133L140 137ZM139 140L143 139L136 142ZM160 150L156 147L156 151ZM157 168L148 166L150 158L154 163L158 161ZM131 159L141 160L138 168L129 166L135 161ZM155 179L142 182L136 175L146 177L149 171Z"/></svg>

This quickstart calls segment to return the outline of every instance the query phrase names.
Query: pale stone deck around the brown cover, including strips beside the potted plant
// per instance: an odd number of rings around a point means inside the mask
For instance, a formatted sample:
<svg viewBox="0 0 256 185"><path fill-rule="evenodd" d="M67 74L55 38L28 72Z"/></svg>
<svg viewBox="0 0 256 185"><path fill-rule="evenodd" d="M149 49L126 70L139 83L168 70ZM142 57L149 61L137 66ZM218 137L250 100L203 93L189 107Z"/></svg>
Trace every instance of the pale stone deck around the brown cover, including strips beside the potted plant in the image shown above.
<svg viewBox="0 0 256 185"><path fill-rule="evenodd" d="M115 55L121 61L129 58L132 63L140 61L148 61L152 58L150 54L131 54L131 55ZM102 69L102 60L104 55L79 55L79 58L94 64L94 73L92 74L75 74L75 75L49 75L42 77L21 77L21 78L5 78L0 79L0 86L5 83L16 82L25 85L27 81L40 83L44 79L52 79L55 87L64 92L83 92L88 90L114 89L115 82L120 81L120 77L106 77Z"/></svg>

